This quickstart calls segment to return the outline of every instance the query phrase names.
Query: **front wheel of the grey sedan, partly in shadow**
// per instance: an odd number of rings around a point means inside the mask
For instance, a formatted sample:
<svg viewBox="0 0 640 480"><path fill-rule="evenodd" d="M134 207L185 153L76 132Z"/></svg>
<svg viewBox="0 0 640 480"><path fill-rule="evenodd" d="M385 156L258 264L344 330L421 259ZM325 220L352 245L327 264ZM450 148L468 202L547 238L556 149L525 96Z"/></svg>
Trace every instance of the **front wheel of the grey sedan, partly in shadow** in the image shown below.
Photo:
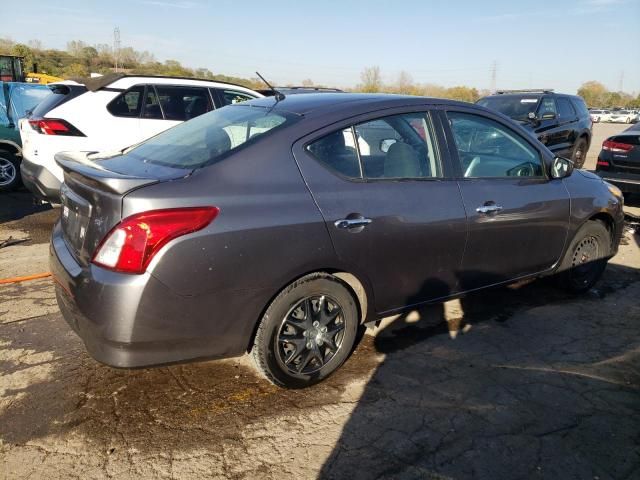
<svg viewBox="0 0 640 480"><path fill-rule="evenodd" d="M560 264L558 283L571 293L584 293L602 276L611 256L611 233L598 220L585 223L569 244Z"/></svg>

